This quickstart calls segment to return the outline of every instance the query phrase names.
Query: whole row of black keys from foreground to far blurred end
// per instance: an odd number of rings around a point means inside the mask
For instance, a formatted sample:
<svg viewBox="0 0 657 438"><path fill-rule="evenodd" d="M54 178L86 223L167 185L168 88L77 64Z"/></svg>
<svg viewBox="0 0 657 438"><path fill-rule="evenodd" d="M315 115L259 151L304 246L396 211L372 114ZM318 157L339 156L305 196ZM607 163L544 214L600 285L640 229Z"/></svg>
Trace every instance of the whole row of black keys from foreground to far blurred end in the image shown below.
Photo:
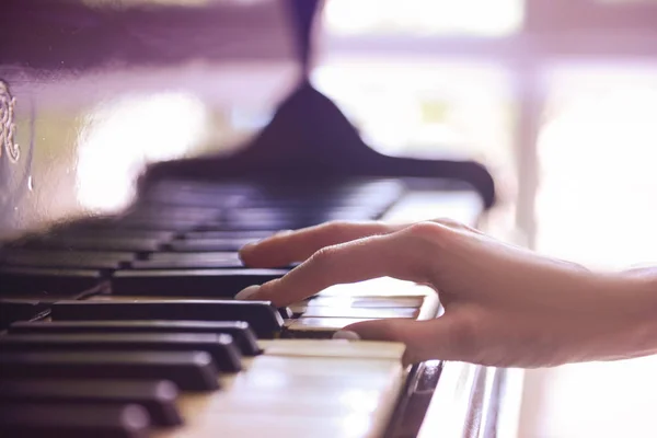
<svg viewBox="0 0 657 438"><path fill-rule="evenodd" d="M377 218L400 188L378 187L319 199L318 191L297 196L299 187L292 196L254 196L250 188L173 184L119 218L18 242L0 261L0 292L43 300L14 301L8 316L21 316L21 308L25 319L51 311L54 321L14 323L0 336L0 436L137 438L149 423L181 424L177 390L217 390L219 372L235 372L241 356L260 354L256 338L281 332L288 309L53 298L105 279L115 295L232 297L287 272L244 269L235 254L243 244L268 230Z"/></svg>

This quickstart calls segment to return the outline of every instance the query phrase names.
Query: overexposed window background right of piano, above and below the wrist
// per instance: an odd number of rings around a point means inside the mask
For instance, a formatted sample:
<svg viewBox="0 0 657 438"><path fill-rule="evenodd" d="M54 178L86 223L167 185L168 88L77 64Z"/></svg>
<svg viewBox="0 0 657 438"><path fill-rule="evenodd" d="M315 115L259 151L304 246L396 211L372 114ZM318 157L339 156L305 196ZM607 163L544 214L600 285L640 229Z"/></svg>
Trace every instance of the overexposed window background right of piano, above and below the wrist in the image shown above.
<svg viewBox="0 0 657 438"><path fill-rule="evenodd" d="M491 232L593 268L657 262L657 1L331 0L323 23L319 87L385 153L484 162ZM518 436L657 434L655 365L526 371Z"/></svg>

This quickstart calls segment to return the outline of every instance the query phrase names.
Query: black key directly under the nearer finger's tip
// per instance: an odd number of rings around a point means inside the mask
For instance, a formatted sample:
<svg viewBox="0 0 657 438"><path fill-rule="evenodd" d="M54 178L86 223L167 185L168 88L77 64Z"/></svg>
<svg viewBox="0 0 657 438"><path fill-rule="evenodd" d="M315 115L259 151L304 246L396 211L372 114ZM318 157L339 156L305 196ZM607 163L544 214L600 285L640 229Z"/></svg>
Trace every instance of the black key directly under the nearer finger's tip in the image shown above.
<svg viewBox="0 0 657 438"><path fill-rule="evenodd" d="M143 269L112 275L114 295L231 298L251 285L283 277L288 269Z"/></svg>

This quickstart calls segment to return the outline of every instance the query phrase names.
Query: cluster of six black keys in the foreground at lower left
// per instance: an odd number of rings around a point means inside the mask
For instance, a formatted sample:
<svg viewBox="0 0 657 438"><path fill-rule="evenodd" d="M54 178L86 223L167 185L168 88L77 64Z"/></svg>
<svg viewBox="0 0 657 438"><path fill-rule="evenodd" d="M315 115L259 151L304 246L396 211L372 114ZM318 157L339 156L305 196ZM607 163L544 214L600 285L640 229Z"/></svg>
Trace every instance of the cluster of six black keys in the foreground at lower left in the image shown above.
<svg viewBox="0 0 657 438"><path fill-rule="evenodd" d="M268 302L70 301L51 316L0 336L0 436L134 438L178 425L178 389L220 389L218 374L240 371L261 354L258 335L283 326Z"/></svg>

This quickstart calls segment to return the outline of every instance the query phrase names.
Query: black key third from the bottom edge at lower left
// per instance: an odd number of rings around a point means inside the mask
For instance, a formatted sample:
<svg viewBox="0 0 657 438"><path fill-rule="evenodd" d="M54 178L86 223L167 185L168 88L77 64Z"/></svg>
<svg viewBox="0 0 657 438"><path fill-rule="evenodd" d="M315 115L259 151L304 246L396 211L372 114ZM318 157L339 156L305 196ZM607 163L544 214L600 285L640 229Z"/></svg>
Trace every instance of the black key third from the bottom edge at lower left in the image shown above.
<svg viewBox="0 0 657 438"><path fill-rule="evenodd" d="M219 388L212 357L205 351L38 351L0 355L3 379L163 379L183 391Z"/></svg>

